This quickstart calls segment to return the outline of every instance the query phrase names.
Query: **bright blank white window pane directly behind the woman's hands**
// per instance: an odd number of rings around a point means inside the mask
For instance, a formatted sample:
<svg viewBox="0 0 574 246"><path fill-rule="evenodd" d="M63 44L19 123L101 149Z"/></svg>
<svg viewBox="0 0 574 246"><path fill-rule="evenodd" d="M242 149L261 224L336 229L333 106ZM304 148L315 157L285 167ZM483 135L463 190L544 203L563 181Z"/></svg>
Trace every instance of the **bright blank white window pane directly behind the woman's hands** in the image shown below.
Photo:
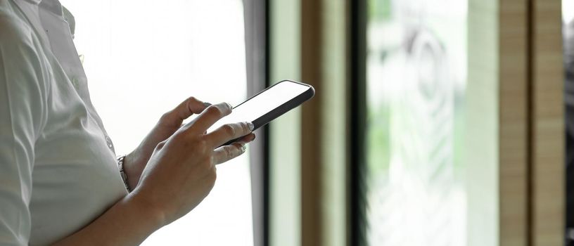
<svg viewBox="0 0 574 246"><path fill-rule="evenodd" d="M243 2L62 0L91 98L117 153L127 153L162 113L189 96L245 100ZM217 167L208 198L143 245L253 245L248 155Z"/></svg>

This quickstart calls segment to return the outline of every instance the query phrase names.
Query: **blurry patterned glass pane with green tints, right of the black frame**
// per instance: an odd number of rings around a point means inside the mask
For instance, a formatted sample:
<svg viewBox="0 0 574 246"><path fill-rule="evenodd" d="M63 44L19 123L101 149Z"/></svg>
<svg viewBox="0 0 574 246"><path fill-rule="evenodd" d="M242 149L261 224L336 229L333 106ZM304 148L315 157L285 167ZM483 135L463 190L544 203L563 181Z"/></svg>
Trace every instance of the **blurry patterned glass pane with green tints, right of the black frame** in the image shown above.
<svg viewBox="0 0 574 246"><path fill-rule="evenodd" d="M465 0L369 0L367 241L466 245Z"/></svg>

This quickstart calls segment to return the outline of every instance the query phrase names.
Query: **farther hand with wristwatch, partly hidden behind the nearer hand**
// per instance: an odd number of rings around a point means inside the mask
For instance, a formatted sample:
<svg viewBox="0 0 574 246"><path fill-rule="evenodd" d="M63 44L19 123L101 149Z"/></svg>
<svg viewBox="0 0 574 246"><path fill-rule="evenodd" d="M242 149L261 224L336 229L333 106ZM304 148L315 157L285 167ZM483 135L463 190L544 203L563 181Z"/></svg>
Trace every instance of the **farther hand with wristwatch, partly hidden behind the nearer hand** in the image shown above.
<svg viewBox="0 0 574 246"><path fill-rule="evenodd" d="M162 117L160 117L160 120L155 124L155 127L153 127L146 138L141 141L132 153L126 155L124 159L124 169L126 171L128 185L131 190L136 188L141 172L144 171L155 146L172 136L175 131L181 127L181 123L184 122L184 119L187 119L193 114L202 112L209 105L210 103L203 103L198 101L196 98L191 97L187 98L186 101L183 101L177 105L176 108L170 112L166 112ZM253 140L251 139L253 137L254 136L247 136L246 138L241 139L241 141L245 143L246 141Z"/></svg>

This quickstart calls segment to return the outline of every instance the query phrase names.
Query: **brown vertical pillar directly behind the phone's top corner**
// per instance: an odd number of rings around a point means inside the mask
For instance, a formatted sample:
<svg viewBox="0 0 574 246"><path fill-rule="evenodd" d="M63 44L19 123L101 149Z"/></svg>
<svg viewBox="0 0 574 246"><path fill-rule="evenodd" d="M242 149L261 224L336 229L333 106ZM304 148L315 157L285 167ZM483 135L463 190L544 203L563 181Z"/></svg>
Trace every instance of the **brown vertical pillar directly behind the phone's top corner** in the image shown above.
<svg viewBox="0 0 574 246"><path fill-rule="evenodd" d="M301 240L321 245L321 0L301 1L301 77L314 86L313 100L302 106Z"/></svg>

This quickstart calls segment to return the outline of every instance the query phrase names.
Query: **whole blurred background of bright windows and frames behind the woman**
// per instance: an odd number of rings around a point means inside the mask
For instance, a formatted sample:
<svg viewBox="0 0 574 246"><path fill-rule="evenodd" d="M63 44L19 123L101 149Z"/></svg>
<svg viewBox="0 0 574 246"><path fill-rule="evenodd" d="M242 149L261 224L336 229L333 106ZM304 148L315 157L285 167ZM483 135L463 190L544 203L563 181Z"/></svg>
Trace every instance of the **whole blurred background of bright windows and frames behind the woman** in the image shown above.
<svg viewBox="0 0 574 246"><path fill-rule="evenodd" d="M144 245L574 245L574 0L60 1L118 155L189 96L317 91Z"/></svg>

